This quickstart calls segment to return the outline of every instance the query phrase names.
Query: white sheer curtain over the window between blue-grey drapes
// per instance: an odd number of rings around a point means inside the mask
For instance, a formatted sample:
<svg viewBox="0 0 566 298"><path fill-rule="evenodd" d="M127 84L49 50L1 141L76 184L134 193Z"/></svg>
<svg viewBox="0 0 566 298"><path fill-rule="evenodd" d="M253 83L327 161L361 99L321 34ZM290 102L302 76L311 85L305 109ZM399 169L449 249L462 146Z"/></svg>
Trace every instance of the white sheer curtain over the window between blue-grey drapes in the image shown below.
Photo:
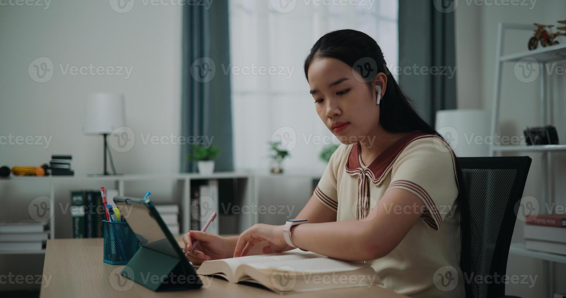
<svg viewBox="0 0 566 298"><path fill-rule="evenodd" d="M316 114L303 61L324 33L350 28L378 42L389 69L397 66L397 1L295 0L286 13L272 2L230 0L231 65L221 71L231 74L234 168L267 171L269 141L282 132L291 149L285 171L321 173L320 151L338 142Z"/></svg>

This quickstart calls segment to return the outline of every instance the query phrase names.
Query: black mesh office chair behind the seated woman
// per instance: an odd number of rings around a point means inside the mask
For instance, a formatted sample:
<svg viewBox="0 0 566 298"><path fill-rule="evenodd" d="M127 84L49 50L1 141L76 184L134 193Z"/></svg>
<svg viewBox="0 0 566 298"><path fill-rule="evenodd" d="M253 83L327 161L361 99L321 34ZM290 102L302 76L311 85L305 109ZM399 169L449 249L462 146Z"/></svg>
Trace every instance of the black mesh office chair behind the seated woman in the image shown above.
<svg viewBox="0 0 566 298"><path fill-rule="evenodd" d="M531 158L460 157L465 194L460 200L466 297L505 296L504 283L475 283L471 274L504 275L515 221ZM470 280L470 282L468 282Z"/></svg>

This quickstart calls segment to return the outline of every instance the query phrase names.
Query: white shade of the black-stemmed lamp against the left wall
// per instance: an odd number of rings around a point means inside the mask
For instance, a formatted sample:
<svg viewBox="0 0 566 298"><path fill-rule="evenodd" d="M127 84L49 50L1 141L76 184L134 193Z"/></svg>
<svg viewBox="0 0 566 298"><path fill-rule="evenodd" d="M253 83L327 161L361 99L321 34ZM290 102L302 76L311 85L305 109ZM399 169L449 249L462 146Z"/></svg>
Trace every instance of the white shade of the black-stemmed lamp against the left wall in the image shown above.
<svg viewBox="0 0 566 298"><path fill-rule="evenodd" d="M101 135L125 126L124 110L122 94L109 92L88 94L84 133Z"/></svg>

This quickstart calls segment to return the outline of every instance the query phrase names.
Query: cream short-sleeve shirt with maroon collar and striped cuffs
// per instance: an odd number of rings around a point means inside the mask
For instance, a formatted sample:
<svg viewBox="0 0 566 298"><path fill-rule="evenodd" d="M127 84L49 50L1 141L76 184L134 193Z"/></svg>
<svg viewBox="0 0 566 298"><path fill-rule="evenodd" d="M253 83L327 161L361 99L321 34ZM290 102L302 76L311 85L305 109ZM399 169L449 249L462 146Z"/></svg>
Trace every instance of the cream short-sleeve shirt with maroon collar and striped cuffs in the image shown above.
<svg viewBox="0 0 566 298"><path fill-rule="evenodd" d="M336 211L337 221L365 218L388 189L405 189L421 198L426 208L406 210L417 210L422 220L387 256L367 261L384 287L404 295L465 296L456 164L449 148L440 137L415 131L365 166L359 143L342 144L314 191L322 204Z"/></svg>

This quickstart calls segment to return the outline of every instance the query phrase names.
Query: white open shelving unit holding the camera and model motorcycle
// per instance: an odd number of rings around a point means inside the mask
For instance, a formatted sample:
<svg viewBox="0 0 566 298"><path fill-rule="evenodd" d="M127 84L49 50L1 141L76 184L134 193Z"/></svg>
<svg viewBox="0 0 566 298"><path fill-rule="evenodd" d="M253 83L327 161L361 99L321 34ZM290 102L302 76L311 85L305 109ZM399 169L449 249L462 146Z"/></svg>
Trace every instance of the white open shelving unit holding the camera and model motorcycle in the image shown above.
<svg viewBox="0 0 566 298"><path fill-rule="evenodd" d="M522 51L520 53L503 54L503 41L505 30L524 30L533 31L534 25L532 24L514 24L514 23L499 23L498 25L498 42L496 45L496 64L495 64L495 88L494 88L494 102L491 118L491 135L495 136L499 126L499 107L501 99L501 68L503 63L513 62L516 63L523 58L534 58L539 63L539 83L540 83L540 118L541 125L545 126L552 124L552 100L547 98L547 73L542 71L544 66L548 63L556 63L566 61L566 45L554 45L547 47L539 47L532 51ZM543 192L541 193L541 203L552 204L554 202L554 176L552 176L552 161L551 153L565 151L566 145L490 145L490 156L494 156L498 152L535 152L542 154L542 181L545 184ZM537 258L543 260L544 271L546 273L546 297L551 297L556 290L555 285L555 269L554 262L566 263L566 256L560 256L554 253L545 253L538 251L531 251L525 248L522 243L512 243L509 253L516 254L517 256Z"/></svg>

